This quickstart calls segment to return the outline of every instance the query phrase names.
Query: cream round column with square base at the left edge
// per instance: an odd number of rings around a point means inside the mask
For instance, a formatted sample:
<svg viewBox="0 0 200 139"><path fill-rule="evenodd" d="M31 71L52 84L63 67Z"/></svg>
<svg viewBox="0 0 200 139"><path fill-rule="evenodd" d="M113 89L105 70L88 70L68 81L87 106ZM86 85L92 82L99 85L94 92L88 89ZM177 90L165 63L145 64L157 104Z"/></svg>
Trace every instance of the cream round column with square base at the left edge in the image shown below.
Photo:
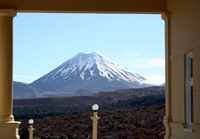
<svg viewBox="0 0 200 139"><path fill-rule="evenodd" d="M0 9L0 139L18 139L13 117L13 17L15 10Z"/></svg>

